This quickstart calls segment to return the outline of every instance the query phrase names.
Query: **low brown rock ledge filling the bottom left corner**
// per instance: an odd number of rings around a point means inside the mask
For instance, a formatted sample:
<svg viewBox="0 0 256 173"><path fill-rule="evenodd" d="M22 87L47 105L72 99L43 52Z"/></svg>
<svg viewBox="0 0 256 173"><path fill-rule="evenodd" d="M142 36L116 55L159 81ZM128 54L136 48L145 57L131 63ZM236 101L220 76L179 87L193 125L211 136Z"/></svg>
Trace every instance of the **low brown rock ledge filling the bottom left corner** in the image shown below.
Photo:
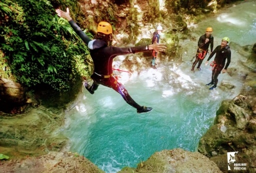
<svg viewBox="0 0 256 173"><path fill-rule="evenodd" d="M0 168L0 173L104 173L86 158L67 152L0 162Z"/></svg>

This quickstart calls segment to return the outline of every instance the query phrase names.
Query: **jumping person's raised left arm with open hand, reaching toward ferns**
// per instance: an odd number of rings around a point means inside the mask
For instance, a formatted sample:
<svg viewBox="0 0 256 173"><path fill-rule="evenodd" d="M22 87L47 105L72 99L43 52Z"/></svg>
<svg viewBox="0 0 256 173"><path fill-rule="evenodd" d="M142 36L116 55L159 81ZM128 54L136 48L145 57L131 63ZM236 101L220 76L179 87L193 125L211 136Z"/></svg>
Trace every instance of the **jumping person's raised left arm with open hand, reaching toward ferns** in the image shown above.
<svg viewBox="0 0 256 173"><path fill-rule="evenodd" d="M91 41L91 39L72 20L72 18L70 17L70 14L69 14L69 9L66 8L66 12L62 11L61 9L56 9L55 11L59 17L63 17L64 19L66 19L69 22L69 24L71 25L73 30L76 32L76 34L82 39L83 42L85 42L86 45L88 45L88 43L89 43L89 41Z"/></svg>

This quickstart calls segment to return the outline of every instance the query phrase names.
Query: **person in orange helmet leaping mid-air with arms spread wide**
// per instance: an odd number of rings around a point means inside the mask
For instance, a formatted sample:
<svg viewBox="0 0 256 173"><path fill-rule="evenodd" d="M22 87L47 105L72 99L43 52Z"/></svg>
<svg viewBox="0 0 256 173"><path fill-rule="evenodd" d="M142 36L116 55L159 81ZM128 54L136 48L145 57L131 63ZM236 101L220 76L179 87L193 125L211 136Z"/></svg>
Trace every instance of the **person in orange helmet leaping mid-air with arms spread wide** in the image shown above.
<svg viewBox="0 0 256 173"><path fill-rule="evenodd" d="M69 9L66 8L66 12L56 9L58 16L65 18L74 31L79 35L79 37L84 41L88 46L90 51L90 56L93 60L94 70L91 78L93 80L92 86L87 82L84 82L84 87L89 91L90 94L93 94L94 91L98 88L98 85L104 85L106 87L112 88L118 92L123 99L132 107L137 109L137 113L149 112L152 108L138 105L128 94L124 86L119 83L113 77L112 71L112 61L113 58L117 55L124 55L128 53L137 53L147 50L155 49L157 51L164 51L166 46L164 44L150 44L145 46L136 46L136 47L114 47L108 46L112 41L112 27L108 22L101 21L97 26L96 39L91 40L77 24L72 20L69 15Z"/></svg>

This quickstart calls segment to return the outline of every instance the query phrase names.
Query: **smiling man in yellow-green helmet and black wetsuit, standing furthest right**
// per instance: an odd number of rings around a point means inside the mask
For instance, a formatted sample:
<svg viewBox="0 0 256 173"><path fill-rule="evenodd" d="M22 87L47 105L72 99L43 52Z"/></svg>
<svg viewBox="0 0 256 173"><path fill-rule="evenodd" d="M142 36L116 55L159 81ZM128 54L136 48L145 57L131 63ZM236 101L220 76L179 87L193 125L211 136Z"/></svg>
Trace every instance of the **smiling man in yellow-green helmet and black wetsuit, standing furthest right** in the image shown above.
<svg viewBox="0 0 256 173"><path fill-rule="evenodd" d="M211 82L206 84L206 86L213 85L212 87L209 88L209 90L213 90L214 88L217 87L218 75L220 74L220 72L223 68L224 69L222 70L222 73L225 73L226 69L230 63L231 51L230 51L229 46L227 45L228 42L229 42L228 37L222 38L221 44L218 45L213 50L213 52L211 52L210 56L208 57L207 61L205 62L205 65L207 65L210 58L216 53L215 58L214 58L214 67L213 67L212 74L211 74ZM225 65L226 59L227 59L227 62Z"/></svg>

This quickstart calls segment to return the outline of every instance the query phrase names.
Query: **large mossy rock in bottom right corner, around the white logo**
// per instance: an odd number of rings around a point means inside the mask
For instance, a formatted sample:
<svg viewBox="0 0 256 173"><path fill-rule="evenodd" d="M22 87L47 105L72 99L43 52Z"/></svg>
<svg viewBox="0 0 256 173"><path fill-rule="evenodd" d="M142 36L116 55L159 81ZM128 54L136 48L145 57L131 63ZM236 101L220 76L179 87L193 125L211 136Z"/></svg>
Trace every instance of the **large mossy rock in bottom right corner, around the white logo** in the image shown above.
<svg viewBox="0 0 256 173"><path fill-rule="evenodd" d="M227 172L227 152L238 152L235 163L245 163L247 172L256 172L255 91L230 102L223 101L214 125L200 139L198 151L215 162L222 172Z"/></svg>

